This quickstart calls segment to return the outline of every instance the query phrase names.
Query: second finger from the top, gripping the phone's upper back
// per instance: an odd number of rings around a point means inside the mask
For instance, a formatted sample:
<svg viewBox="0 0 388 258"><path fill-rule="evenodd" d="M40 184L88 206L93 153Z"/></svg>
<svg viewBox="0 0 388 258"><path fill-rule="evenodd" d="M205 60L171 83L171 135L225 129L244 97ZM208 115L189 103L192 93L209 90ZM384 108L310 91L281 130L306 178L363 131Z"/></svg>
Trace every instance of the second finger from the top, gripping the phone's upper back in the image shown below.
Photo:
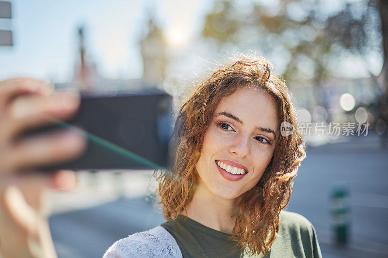
<svg viewBox="0 0 388 258"><path fill-rule="evenodd" d="M12 140L28 128L45 125L57 120L67 120L80 106L77 91L55 93L51 96L26 96L17 98L8 108L4 139Z"/></svg>

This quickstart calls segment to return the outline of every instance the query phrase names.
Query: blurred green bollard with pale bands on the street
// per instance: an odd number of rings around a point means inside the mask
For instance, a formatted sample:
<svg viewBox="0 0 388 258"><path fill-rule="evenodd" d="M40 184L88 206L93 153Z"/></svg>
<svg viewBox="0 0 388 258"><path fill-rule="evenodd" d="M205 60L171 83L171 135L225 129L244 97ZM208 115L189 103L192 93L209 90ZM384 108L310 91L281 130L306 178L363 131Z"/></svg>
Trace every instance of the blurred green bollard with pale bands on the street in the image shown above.
<svg viewBox="0 0 388 258"><path fill-rule="evenodd" d="M335 242L347 244L349 242L350 207L349 188L346 182L334 184L330 199Z"/></svg>

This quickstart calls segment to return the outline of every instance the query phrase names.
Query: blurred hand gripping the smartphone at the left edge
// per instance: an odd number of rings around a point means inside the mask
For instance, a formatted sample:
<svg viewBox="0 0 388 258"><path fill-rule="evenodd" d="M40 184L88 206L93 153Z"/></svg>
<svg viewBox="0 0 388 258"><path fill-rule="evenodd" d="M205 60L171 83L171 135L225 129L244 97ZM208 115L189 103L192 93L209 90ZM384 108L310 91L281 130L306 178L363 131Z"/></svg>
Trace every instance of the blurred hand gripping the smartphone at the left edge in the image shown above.
<svg viewBox="0 0 388 258"><path fill-rule="evenodd" d="M29 128L66 120L80 104L77 94L55 93L49 85L17 78L0 82L0 251L3 258L56 257L44 192L75 184L72 171L20 173L80 155L86 140L76 132L57 131L16 140Z"/></svg>

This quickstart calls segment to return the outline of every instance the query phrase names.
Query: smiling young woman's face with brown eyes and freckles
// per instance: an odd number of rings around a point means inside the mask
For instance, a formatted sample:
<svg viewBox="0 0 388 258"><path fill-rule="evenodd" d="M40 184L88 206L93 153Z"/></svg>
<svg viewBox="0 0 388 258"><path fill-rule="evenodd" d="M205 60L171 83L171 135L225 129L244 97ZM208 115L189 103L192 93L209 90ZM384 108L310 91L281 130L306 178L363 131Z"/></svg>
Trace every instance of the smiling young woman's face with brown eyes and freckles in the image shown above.
<svg viewBox="0 0 388 258"><path fill-rule="evenodd" d="M225 199L250 190L271 161L277 125L275 100L268 93L245 87L224 97L204 136L198 188Z"/></svg>

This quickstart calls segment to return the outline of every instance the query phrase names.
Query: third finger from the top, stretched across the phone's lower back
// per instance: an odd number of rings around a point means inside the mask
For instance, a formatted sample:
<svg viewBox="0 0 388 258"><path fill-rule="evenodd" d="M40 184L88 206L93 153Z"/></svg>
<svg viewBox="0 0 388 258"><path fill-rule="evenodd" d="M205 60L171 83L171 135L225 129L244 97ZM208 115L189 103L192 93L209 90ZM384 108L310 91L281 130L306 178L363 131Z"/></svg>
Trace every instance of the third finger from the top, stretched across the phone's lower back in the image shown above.
<svg viewBox="0 0 388 258"><path fill-rule="evenodd" d="M3 174L11 174L65 162L79 156L86 144L86 138L75 129L28 137L0 156L0 168Z"/></svg>

